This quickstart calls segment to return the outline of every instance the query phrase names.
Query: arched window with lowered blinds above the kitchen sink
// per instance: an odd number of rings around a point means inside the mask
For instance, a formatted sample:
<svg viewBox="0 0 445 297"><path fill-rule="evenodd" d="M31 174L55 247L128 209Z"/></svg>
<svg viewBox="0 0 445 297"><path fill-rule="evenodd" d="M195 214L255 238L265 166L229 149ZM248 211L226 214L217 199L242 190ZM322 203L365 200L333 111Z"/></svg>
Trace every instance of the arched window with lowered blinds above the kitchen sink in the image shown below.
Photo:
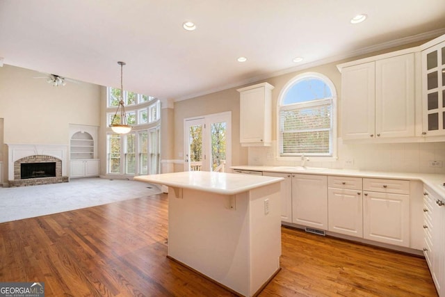
<svg viewBox="0 0 445 297"><path fill-rule="evenodd" d="M336 100L334 84L323 74L291 79L278 99L279 156L334 157Z"/></svg>

